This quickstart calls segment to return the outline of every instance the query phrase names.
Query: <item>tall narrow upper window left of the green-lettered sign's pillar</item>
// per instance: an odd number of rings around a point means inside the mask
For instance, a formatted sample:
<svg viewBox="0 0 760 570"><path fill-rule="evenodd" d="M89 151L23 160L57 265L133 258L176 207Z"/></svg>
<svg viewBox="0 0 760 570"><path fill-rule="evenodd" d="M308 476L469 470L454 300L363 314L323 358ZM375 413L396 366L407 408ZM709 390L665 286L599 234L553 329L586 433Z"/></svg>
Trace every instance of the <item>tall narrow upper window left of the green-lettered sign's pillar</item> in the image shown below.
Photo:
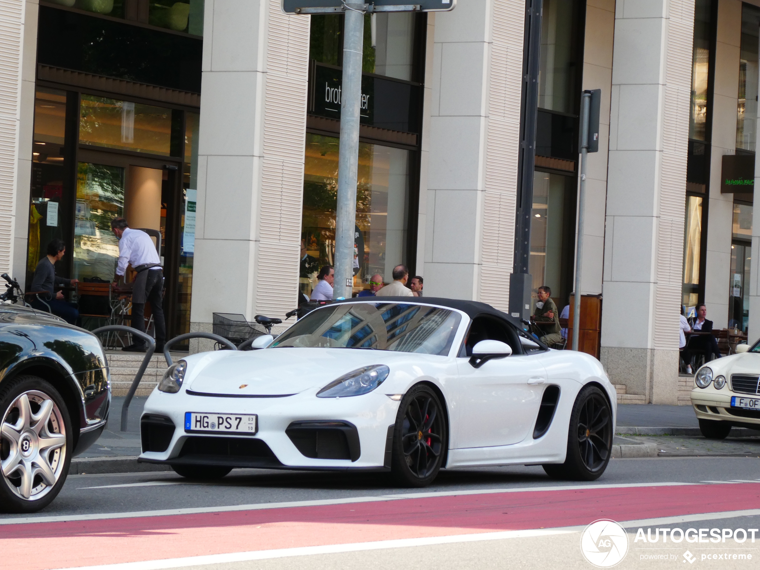
<svg viewBox="0 0 760 570"><path fill-rule="evenodd" d="M689 138L707 141L708 76L711 56L712 0L696 0L692 49L692 101L689 110Z"/></svg>

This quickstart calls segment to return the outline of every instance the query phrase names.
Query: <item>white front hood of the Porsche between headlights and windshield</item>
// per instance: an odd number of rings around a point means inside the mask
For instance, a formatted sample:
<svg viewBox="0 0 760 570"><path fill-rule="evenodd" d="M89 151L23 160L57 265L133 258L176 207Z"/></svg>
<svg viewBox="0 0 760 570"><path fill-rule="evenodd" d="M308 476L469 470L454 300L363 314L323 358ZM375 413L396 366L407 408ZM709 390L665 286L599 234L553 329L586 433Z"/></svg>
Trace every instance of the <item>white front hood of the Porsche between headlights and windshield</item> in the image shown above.
<svg viewBox="0 0 760 570"><path fill-rule="evenodd" d="M204 394L235 396L284 396L310 388L322 388L335 378L373 364L398 363L410 356L424 359L428 355L389 350L353 350L339 348L267 348L233 352L219 350L217 358L204 363L192 374L188 389ZM440 356L435 358L440 359ZM194 374L195 372L195 374ZM241 386L245 385L241 388Z"/></svg>

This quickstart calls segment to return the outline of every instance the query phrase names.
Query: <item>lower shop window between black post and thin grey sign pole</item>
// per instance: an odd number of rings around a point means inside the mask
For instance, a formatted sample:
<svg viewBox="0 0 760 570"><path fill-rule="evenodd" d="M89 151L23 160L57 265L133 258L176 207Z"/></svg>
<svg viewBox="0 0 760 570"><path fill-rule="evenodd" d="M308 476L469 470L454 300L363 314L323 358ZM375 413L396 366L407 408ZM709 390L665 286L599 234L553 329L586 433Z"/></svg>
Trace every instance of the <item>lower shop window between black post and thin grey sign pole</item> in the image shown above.
<svg viewBox="0 0 760 570"><path fill-rule="evenodd" d="M537 290L548 285L557 306L567 302L568 268L574 259L575 177L534 173L533 209L530 212L530 274L534 300Z"/></svg>

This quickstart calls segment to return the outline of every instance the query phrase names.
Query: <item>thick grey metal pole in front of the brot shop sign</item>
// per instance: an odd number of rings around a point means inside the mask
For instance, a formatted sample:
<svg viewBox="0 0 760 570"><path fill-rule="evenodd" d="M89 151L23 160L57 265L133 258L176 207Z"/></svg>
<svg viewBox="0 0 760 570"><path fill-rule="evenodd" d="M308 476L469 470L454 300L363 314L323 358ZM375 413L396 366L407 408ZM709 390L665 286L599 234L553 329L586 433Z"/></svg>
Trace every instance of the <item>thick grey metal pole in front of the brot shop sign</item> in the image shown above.
<svg viewBox="0 0 760 570"><path fill-rule="evenodd" d="M343 82L340 93L340 154L335 212L333 299L353 293L353 244L356 227L356 178L359 169L359 108L364 47L363 4L344 4ZM363 252L359 252L362 255Z"/></svg>

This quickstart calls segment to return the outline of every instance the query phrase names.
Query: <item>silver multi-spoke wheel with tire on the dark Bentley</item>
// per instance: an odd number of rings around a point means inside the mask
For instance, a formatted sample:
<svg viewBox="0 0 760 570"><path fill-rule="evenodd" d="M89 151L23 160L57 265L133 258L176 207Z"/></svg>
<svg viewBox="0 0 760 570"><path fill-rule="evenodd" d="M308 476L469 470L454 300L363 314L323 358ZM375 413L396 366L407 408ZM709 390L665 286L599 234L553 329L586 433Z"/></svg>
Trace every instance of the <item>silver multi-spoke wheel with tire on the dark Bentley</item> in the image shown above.
<svg viewBox="0 0 760 570"><path fill-rule="evenodd" d="M71 464L74 433L61 394L37 376L0 388L0 510L30 513L61 492Z"/></svg>

